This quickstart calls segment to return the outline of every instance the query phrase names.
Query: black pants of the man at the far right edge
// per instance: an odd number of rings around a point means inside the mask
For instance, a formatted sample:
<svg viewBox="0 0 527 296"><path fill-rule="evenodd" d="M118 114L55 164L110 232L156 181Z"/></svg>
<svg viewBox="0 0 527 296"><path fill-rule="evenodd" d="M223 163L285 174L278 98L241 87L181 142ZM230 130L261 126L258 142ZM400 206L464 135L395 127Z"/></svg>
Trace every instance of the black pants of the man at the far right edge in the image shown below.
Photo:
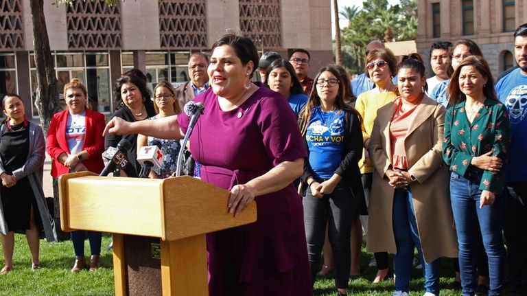
<svg viewBox="0 0 527 296"><path fill-rule="evenodd" d="M507 183L504 219L511 295L527 295L527 181ZM524 205L511 194L522 198Z"/></svg>

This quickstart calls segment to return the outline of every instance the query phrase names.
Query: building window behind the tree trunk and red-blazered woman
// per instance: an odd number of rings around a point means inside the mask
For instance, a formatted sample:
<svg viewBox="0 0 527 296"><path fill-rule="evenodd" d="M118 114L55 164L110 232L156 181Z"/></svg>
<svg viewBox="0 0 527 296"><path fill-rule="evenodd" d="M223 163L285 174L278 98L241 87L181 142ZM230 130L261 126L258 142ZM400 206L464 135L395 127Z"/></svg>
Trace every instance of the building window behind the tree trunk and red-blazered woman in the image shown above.
<svg viewBox="0 0 527 296"><path fill-rule="evenodd" d="M109 114L112 111L112 83L110 82L110 57L108 52L54 53L57 75L57 91L60 105L65 108L64 86L71 79L78 78L88 91L91 110ZM36 67L34 55L30 55L32 103L36 99ZM33 117L38 117L36 108Z"/></svg>

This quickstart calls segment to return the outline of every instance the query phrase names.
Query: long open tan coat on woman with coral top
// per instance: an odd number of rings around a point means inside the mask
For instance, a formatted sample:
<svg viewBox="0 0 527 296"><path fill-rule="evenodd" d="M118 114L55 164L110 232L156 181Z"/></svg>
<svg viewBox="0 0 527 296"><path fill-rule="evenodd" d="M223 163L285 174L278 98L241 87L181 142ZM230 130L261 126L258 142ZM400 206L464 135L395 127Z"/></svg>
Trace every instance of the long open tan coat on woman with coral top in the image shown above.
<svg viewBox="0 0 527 296"><path fill-rule="evenodd" d="M367 249L371 252L397 253L392 221L394 189L385 176L391 168L389 131L394 111L394 103L377 111L368 144L375 166L368 207ZM446 110L425 96L414 112L405 148L408 172L417 180L410 183L410 190L423 256L428 263L440 257L456 258L458 243L449 198L449 172L441 155Z"/></svg>

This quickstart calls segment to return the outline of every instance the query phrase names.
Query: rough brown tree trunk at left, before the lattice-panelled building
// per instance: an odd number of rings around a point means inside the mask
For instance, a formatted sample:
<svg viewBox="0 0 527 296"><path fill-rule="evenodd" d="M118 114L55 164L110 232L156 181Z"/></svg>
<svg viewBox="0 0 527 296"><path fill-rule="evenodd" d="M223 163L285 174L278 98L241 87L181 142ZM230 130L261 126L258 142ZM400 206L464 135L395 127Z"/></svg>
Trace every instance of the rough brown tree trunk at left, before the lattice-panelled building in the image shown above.
<svg viewBox="0 0 527 296"><path fill-rule="evenodd" d="M30 1L33 20L33 46L36 66L36 100L35 105L40 115L40 126L47 135L51 117L60 111L57 92L57 77L53 56L49 48L46 21L44 16L44 1Z"/></svg>

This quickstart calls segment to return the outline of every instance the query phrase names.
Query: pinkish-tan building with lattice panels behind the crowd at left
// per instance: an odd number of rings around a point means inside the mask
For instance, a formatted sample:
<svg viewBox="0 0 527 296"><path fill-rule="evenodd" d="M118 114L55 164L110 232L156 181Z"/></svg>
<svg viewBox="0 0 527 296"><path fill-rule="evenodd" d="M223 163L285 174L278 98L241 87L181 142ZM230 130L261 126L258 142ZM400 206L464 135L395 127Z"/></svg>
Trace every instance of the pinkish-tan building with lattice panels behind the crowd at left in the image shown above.
<svg viewBox="0 0 527 296"><path fill-rule="evenodd" d="M31 0L0 0L0 96L19 93L26 113L34 108ZM287 58L295 48L312 54L312 72L333 60L329 1L318 0L141 0L108 7L104 0L52 5L44 0L58 92L71 78L88 88L89 104L102 113L115 109L113 84L133 67L150 87L188 80L192 52L210 47L228 29L249 36L260 53Z"/></svg>

